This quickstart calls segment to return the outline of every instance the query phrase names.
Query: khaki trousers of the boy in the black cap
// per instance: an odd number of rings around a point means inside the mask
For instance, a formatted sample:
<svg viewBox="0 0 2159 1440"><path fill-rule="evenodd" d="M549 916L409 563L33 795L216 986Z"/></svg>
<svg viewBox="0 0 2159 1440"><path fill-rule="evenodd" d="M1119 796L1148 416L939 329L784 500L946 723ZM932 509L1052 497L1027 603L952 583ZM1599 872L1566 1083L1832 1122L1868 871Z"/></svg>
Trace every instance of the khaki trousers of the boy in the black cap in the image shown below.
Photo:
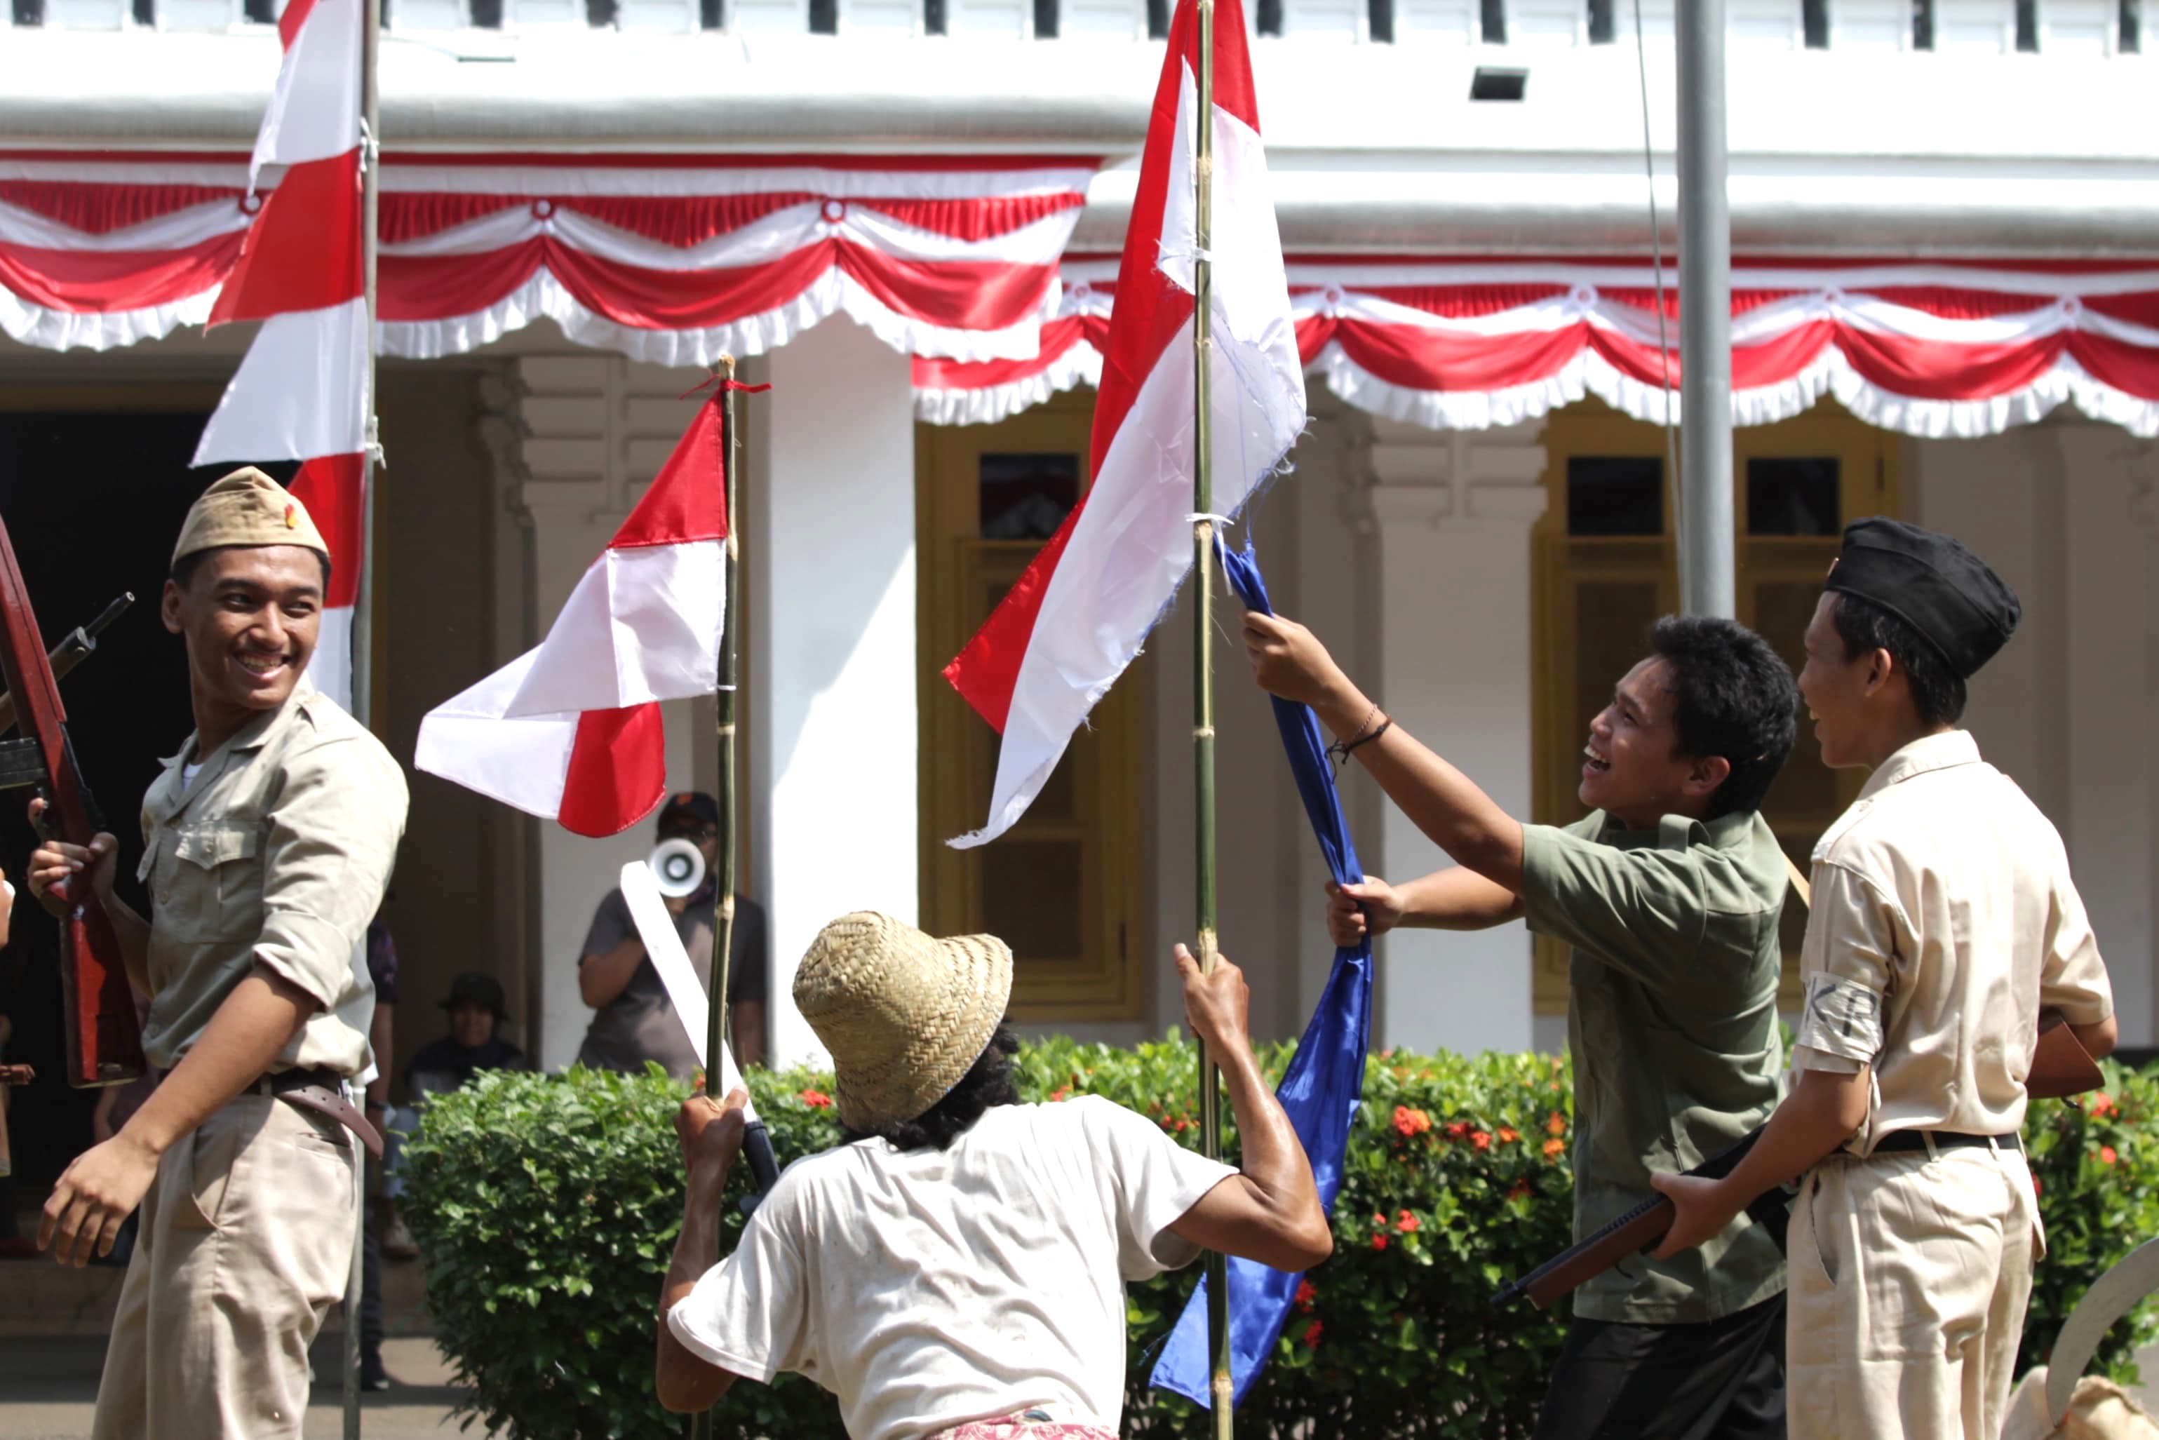
<svg viewBox="0 0 2159 1440"><path fill-rule="evenodd" d="M2045 1254L2017 1151L1835 1155L1790 1233L1792 1440L1997 1440Z"/></svg>

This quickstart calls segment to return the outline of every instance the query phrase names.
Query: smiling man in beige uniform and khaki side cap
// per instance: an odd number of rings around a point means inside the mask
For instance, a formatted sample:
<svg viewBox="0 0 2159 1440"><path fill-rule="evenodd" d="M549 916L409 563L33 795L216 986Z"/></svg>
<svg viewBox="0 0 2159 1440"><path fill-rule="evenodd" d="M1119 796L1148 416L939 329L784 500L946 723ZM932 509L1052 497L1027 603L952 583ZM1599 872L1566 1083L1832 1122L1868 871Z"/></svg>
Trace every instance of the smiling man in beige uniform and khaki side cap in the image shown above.
<svg viewBox="0 0 2159 1440"><path fill-rule="evenodd" d="M194 734L142 799L151 918L112 896L112 836L30 859L47 907L58 881L104 902L151 997L142 1047L171 1071L67 1168L39 1228L82 1265L142 1207L97 1440L298 1438L307 1347L352 1267L356 1136L376 1142L350 1103L374 1008L354 956L406 784L307 682L328 572L268 475L205 490L162 602L188 646Z"/></svg>

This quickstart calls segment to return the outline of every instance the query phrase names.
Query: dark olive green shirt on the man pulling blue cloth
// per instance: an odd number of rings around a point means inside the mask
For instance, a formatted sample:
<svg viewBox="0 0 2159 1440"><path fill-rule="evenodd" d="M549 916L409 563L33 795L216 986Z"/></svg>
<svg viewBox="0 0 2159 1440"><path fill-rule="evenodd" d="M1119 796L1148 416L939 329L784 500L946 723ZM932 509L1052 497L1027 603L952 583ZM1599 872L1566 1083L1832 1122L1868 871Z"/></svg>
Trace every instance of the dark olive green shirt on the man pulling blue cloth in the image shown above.
<svg viewBox="0 0 2159 1440"><path fill-rule="evenodd" d="M1574 946L1574 1233L1649 1198L1768 1118L1783 1071L1777 918L1783 851L1762 816L1604 812L1522 827L1529 928ZM1621 1269L1626 1274L1621 1274ZM1723 1319L1783 1291L1783 1256L1749 1215L1669 1261L1637 1254L1574 1291L1574 1313L1626 1323Z"/></svg>

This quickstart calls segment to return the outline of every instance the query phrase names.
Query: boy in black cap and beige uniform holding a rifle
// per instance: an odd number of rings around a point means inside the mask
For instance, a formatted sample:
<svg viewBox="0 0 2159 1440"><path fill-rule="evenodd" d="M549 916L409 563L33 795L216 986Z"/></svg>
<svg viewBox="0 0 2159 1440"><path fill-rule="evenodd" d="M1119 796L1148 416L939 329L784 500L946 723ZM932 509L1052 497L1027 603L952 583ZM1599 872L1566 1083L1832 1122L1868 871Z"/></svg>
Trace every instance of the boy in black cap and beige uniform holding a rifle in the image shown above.
<svg viewBox="0 0 2159 1440"><path fill-rule="evenodd" d="M1796 1084L1727 1179L1654 1177L1678 1205L1660 1256L1801 1177L1794 1440L2001 1434L2045 1248L2019 1144L2040 1010L2114 1049L2062 838L1956 728L2019 617L1950 535L1844 531L1798 689L1822 760L1874 773L1814 848Z"/></svg>

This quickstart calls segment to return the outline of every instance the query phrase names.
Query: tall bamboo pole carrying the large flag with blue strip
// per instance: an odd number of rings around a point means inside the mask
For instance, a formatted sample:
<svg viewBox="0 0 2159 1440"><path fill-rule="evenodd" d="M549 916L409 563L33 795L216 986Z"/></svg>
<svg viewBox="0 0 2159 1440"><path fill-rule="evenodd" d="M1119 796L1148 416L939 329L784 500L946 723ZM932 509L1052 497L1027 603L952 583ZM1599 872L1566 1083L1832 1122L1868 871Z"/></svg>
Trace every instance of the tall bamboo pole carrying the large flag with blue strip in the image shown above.
<svg viewBox="0 0 2159 1440"><path fill-rule="evenodd" d="M1192 838L1196 844L1198 896L1198 961L1211 974L1220 959L1216 937L1216 807L1213 807L1213 415L1209 373L1213 371L1213 261L1207 246L1213 237L1213 0L1198 0L1200 73L1198 73L1198 155L1192 173L1194 242L1192 263ZM1222 1157L1222 1075L1207 1047L1200 1045L1200 1153ZM1231 1440L1237 1427L1235 1390L1228 1358L1228 1259L1207 1256L1207 1354L1213 1358L1209 1412L1216 1440Z"/></svg>

